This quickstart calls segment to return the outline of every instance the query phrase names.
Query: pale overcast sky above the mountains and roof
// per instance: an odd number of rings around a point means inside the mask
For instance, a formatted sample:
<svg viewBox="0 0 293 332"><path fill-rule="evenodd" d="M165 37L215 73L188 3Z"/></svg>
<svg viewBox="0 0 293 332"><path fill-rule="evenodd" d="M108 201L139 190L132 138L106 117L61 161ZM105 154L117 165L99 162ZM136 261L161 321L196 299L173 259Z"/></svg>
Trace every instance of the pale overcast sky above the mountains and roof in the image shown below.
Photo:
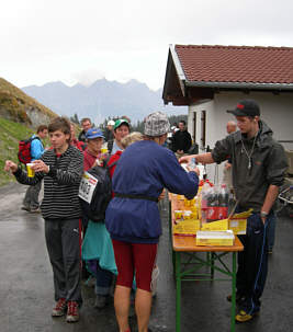
<svg viewBox="0 0 293 332"><path fill-rule="evenodd" d="M292 0L10 0L0 77L19 88L131 79L164 87L169 45L293 47Z"/></svg>

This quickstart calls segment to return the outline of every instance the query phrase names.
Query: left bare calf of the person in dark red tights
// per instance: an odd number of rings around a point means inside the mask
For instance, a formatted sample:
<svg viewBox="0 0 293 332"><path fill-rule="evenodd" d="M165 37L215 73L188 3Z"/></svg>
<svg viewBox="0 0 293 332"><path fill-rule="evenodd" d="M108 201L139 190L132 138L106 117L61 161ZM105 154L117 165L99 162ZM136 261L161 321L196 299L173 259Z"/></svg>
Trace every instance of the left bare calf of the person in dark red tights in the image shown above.
<svg viewBox="0 0 293 332"><path fill-rule="evenodd" d="M128 311L131 305L131 288L116 285L114 294L114 307L120 332L125 332L129 329Z"/></svg>

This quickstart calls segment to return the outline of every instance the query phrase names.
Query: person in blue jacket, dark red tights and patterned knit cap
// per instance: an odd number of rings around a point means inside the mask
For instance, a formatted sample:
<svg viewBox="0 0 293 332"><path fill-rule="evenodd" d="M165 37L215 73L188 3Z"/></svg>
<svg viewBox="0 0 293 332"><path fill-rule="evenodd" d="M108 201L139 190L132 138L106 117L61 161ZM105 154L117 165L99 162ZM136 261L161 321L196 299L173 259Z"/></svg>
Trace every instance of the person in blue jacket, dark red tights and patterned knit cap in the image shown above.
<svg viewBox="0 0 293 332"><path fill-rule="evenodd" d="M189 199L198 192L198 170L187 173L173 152L161 147L169 127L164 113L149 114L145 119L144 140L122 153L113 176L115 196L106 209L105 226L112 238L119 271L114 306L120 332L131 331L128 309L134 272L138 331L148 331L151 273L161 234L159 195L164 187Z"/></svg>

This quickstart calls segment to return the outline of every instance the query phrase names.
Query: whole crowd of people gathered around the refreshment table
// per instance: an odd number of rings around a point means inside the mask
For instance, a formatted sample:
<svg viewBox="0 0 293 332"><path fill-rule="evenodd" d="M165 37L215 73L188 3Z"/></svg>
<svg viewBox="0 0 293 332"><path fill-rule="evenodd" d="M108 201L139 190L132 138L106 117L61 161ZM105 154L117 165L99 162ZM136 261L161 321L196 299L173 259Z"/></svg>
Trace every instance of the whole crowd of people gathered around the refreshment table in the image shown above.
<svg viewBox="0 0 293 332"><path fill-rule="evenodd" d="M286 160L271 129L260 119L255 101L240 101L228 112L237 123L228 123L229 135L209 153L188 154L192 140L184 121L180 121L178 128L171 128L167 149L169 121L164 113L155 112L145 118L144 134L131 133L128 118L109 121L104 131L93 127L90 118L83 118L78 139L75 126L67 118L57 117L48 126L38 127L37 138L32 141L34 176L27 176L11 160L5 161L5 171L11 171L18 182L30 185L23 201L23 209L27 211L38 209L37 196L44 180L41 210L54 275L53 317L66 316L67 322L79 320L83 265L95 277L97 308L110 302L111 287L115 284L120 332L131 331L132 295L138 331L150 331L151 276L161 236L157 203L165 188L188 199L196 195L199 169L188 163L187 172L180 165L191 158L204 164L225 161L225 176L230 176L237 209L253 209L247 234L240 239L245 250L238 256L240 310L236 320L245 322L259 312L268 272L267 229L275 218L273 203L283 182ZM50 148L45 150L42 139L47 134ZM79 202L83 172L94 167L108 168L112 179L112 199L103 222L86 218Z"/></svg>

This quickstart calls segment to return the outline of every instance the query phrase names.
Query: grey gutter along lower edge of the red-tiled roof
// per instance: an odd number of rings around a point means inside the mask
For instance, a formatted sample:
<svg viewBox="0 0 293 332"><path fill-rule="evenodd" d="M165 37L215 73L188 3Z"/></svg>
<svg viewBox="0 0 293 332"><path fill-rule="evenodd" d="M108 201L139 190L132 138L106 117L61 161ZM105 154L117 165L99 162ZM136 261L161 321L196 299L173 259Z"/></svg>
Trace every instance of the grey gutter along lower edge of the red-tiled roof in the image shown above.
<svg viewBox="0 0 293 332"><path fill-rule="evenodd" d="M205 82L205 81L188 81L185 87L194 88L222 88L222 89L249 89L249 90L292 90L293 83L252 83L252 82Z"/></svg>

